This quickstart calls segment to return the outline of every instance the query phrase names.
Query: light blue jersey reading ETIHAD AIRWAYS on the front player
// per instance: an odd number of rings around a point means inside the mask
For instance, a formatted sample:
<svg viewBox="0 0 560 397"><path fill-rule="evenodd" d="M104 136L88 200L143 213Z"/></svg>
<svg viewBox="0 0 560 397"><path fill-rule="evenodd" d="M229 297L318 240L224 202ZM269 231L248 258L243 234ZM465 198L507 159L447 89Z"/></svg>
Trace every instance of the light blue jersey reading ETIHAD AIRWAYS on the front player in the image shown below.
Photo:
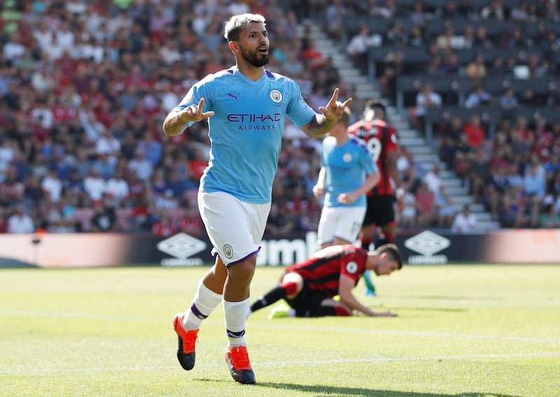
<svg viewBox="0 0 560 397"><path fill-rule="evenodd" d="M202 191L226 192L248 203L268 203L286 115L297 127L315 116L300 87L267 70L253 81L233 66L193 85L175 110L197 104L201 98L204 112L216 113L208 119L211 150L200 180Z"/></svg>

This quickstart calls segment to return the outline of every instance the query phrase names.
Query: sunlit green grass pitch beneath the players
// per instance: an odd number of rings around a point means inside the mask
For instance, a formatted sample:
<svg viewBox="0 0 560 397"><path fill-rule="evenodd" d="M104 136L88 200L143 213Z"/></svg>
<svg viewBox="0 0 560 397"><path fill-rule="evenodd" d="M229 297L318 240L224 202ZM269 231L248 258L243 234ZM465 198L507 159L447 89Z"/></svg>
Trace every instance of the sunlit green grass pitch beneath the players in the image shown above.
<svg viewBox="0 0 560 397"><path fill-rule="evenodd" d="M560 396L560 265L405 266L377 277L396 318L249 317L258 384L224 361L221 307L197 363L176 360L172 317L207 268L0 270L0 396ZM259 267L252 297L281 268Z"/></svg>

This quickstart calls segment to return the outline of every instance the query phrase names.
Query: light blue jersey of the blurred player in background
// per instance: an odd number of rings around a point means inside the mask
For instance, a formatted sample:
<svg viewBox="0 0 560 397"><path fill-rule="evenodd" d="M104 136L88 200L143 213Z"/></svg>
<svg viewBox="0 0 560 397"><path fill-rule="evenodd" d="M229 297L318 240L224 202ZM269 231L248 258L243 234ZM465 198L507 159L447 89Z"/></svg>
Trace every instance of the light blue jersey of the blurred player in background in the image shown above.
<svg viewBox="0 0 560 397"><path fill-rule="evenodd" d="M353 192L366 175L377 172L377 164L363 140L351 136L344 145L337 146L335 137L326 137L321 143L321 166L326 171L325 207L365 207L365 194L351 204L337 201L339 194Z"/></svg>

